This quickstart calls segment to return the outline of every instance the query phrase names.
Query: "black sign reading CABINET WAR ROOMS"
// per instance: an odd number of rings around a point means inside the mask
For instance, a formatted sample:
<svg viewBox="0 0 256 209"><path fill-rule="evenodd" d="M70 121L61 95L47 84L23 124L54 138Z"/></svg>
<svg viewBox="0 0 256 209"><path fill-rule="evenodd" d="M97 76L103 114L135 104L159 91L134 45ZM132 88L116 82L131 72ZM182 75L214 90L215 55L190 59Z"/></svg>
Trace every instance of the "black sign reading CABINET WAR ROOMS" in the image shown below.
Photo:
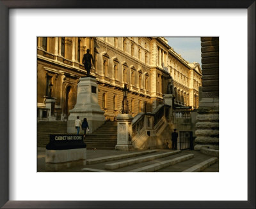
<svg viewBox="0 0 256 209"><path fill-rule="evenodd" d="M50 134L47 150L69 150L72 148L86 148L83 135Z"/></svg>

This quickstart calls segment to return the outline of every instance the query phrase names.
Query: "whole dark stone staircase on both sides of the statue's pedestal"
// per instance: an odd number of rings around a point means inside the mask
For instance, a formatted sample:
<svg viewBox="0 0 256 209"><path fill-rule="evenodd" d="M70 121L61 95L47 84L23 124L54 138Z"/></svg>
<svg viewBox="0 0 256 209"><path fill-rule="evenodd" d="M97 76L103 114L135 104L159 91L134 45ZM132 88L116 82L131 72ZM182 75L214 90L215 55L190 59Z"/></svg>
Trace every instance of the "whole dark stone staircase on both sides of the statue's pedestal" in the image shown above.
<svg viewBox="0 0 256 209"><path fill-rule="evenodd" d="M38 122L37 147L45 147L49 143L49 134L67 134L67 122ZM100 150L115 150L116 141L117 122L112 121L106 121L95 132L87 134L84 140L88 149Z"/></svg>

